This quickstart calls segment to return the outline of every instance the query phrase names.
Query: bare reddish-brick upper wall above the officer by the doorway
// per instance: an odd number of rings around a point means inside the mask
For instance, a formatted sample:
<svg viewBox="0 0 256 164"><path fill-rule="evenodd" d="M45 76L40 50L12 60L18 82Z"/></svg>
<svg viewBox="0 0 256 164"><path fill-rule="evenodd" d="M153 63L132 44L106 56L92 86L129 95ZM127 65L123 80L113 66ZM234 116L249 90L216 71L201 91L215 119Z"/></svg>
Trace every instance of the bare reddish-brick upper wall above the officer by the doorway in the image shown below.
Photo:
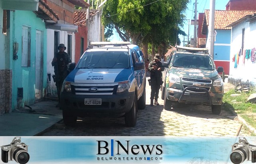
<svg viewBox="0 0 256 164"><path fill-rule="evenodd" d="M74 4L67 0L47 0L47 5L58 15L59 20L74 24Z"/></svg>

